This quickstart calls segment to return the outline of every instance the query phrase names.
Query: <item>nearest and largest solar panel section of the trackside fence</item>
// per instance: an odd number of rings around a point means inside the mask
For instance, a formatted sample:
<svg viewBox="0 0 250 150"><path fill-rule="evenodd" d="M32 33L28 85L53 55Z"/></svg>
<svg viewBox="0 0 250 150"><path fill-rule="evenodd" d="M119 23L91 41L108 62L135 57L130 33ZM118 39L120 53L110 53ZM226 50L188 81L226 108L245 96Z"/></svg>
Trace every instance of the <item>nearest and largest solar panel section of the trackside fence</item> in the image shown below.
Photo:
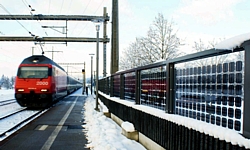
<svg viewBox="0 0 250 150"><path fill-rule="evenodd" d="M176 114L242 132L243 61L176 65Z"/></svg>

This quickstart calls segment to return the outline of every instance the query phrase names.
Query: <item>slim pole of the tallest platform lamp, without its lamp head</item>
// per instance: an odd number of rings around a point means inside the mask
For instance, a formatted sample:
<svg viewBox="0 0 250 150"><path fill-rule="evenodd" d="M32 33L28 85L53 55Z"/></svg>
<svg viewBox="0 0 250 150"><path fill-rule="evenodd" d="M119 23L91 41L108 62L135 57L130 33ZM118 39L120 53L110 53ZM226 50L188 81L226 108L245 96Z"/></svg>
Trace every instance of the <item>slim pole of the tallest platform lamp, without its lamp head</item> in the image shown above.
<svg viewBox="0 0 250 150"><path fill-rule="evenodd" d="M99 72L99 30L100 30L100 25L96 25L96 36L97 36L97 42L96 42L96 107L95 110L98 109L98 72Z"/></svg>

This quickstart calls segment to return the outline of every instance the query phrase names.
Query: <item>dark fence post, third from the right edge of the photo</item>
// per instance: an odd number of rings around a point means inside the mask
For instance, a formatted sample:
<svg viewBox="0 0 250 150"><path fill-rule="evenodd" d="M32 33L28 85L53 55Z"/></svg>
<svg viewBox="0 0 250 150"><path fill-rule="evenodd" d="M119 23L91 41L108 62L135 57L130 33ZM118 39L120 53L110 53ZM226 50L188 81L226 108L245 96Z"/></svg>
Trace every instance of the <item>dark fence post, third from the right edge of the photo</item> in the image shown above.
<svg viewBox="0 0 250 150"><path fill-rule="evenodd" d="M141 71L135 70L135 104L141 104Z"/></svg>

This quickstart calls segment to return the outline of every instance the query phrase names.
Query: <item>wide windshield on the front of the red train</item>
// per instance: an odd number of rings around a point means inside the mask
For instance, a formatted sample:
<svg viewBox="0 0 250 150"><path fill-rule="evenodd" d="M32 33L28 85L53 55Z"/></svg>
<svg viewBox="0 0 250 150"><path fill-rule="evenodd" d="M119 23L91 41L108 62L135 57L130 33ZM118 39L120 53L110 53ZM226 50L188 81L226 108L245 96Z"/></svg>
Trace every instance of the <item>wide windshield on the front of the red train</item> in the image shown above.
<svg viewBox="0 0 250 150"><path fill-rule="evenodd" d="M48 78L49 72L48 67L21 67L17 76L19 78Z"/></svg>

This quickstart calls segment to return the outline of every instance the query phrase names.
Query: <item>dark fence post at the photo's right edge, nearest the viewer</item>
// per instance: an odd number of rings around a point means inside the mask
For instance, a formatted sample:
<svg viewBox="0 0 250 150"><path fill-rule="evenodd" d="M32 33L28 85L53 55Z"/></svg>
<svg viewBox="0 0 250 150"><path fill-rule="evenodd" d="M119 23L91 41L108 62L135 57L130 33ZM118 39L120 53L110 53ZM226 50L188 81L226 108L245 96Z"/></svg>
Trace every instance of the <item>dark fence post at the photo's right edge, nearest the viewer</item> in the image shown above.
<svg viewBox="0 0 250 150"><path fill-rule="evenodd" d="M246 45L244 47L245 49L245 75L244 75L244 108L243 108L243 136L250 138L250 94L248 91L250 91L250 67L248 66L250 64L250 44Z"/></svg>

